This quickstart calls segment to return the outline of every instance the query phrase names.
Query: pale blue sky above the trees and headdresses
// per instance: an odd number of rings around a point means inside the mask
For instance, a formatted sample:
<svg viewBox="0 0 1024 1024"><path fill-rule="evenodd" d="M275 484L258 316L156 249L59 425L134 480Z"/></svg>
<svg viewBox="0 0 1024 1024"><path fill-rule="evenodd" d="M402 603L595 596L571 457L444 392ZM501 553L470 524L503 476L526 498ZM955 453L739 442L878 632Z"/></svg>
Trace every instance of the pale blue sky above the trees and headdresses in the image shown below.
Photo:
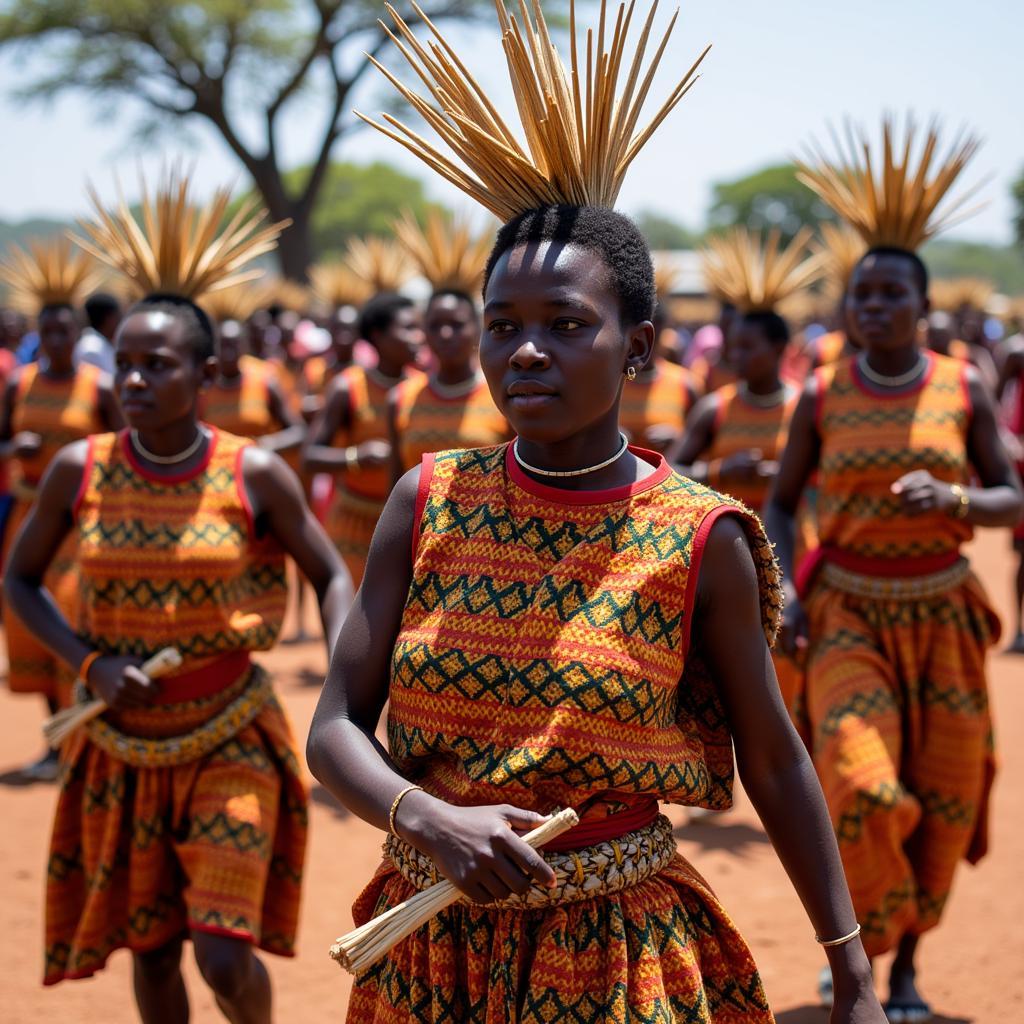
<svg viewBox="0 0 1024 1024"><path fill-rule="evenodd" d="M659 24L669 9L663 9ZM453 38L465 43L470 69L509 110L496 34L479 30ZM953 233L1010 240L1008 188L1024 170L1024 4L1019 0L973 5L689 0L652 96L664 94L671 78L708 42L714 48L701 80L637 160L620 198L623 209L653 208L699 224L713 181L786 159L845 115L873 129L884 112L912 110L921 118L938 114L949 128L966 123L984 138L967 180L990 177L982 193L987 206ZM79 98L52 105L17 103L10 93L23 74L13 57L0 59L2 217L81 214L86 178L110 196L115 171L130 184L140 161L156 167L178 155L196 162L201 190L245 180L230 154L205 129L193 133L194 145L170 135L142 152L131 133L128 103L113 117L97 115L98 108ZM379 109L380 92L375 95L376 83L371 86L357 96L366 113ZM309 156L306 114L301 105L293 108L284 133L283 150L294 163ZM438 199L460 202L454 189L421 171L404 151L370 132L343 143L337 156L391 160L422 173Z"/></svg>

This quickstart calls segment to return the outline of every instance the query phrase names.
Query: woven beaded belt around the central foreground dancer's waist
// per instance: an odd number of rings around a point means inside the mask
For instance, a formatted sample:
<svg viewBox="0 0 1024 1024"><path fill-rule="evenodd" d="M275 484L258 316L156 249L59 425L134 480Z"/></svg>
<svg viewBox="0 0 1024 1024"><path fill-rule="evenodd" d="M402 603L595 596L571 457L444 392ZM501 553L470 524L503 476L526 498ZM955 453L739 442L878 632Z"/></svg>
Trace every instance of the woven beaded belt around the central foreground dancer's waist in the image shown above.
<svg viewBox="0 0 1024 1024"><path fill-rule="evenodd" d="M394 836L387 838L384 853L398 873L417 889L429 889L440 881L429 857ZM557 884L553 889L535 883L521 896L513 894L481 905L496 910L532 910L608 896L657 874L675 856L672 822L659 814L652 824L618 839L582 850L544 853L544 859L555 871Z"/></svg>

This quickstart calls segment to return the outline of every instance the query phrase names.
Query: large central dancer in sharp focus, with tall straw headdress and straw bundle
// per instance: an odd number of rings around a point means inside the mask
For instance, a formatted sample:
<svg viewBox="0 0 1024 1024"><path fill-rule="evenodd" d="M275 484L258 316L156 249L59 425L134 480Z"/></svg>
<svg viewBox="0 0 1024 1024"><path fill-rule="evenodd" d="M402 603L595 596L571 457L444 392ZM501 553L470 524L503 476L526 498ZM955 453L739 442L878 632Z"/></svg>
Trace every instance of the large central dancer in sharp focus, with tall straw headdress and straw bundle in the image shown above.
<svg viewBox="0 0 1024 1024"><path fill-rule="evenodd" d="M434 872L466 900L357 978L348 1020L770 1021L746 945L658 815L660 800L727 806L734 743L827 943L835 1020L877 1024L824 803L765 642L779 606L764 534L620 434L622 390L654 344L650 254L609 209L629 138L599 124L596 148L580 146L592 173L555 152L575 133L571 104L532 120L546 100L522 80L530 52L498 13L531 162L507 159L486 124L455 146L477 161L464 186L506 221L480 359L518 437L428 457L395 487L307 745L325 785L391 833L357 922ZM609 45L622 52L618 30ZM531 49L565 81L553 50ZM605 115L615 78L593 97ZM556 170L575 182L571 204L550 204ZM546 856L519 839L565 806L582 822Z"/></svg>

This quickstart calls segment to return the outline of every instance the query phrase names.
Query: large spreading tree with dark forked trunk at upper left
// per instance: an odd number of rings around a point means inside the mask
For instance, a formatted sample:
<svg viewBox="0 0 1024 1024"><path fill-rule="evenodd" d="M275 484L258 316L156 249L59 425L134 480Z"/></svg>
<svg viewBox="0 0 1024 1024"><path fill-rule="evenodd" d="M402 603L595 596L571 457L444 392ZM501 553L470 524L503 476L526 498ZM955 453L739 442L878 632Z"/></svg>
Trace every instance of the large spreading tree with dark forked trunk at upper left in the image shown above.
<svg viewBox="0 0 1024 1024"><path fill-rule="evenodd" d="M481 0L425 0L440 20L472 14ZM407 2L396 3L411 25ZM0 47L42 59L29 98L79 90L132 97L145 126L201 120L252 176L274 220L283 272L304 280L313 258L312 216L335 145L358 122L352 93L387 44L378 0L0 0ZM315 158L288 174L279 150L283 118L301 102ZM311 108L321 109L317 118Z"/></svg>

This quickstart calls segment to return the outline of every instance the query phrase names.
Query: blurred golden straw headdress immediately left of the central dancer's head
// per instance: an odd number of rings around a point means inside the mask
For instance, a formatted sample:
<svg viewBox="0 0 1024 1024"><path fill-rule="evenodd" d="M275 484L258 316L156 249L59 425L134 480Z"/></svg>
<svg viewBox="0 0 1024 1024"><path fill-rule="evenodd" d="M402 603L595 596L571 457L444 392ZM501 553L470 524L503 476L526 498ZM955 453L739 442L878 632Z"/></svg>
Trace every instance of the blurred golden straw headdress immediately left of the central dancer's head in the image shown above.
<svg viewBox="0 0 1024 1024"><path fill-rule="evenodd" d="M427 217L425 227L406 213L395 221L394 232L435 292L451 288L475 295L479 291L490 255L489 234L474 236L467 220L437 212Z"/></svg>

